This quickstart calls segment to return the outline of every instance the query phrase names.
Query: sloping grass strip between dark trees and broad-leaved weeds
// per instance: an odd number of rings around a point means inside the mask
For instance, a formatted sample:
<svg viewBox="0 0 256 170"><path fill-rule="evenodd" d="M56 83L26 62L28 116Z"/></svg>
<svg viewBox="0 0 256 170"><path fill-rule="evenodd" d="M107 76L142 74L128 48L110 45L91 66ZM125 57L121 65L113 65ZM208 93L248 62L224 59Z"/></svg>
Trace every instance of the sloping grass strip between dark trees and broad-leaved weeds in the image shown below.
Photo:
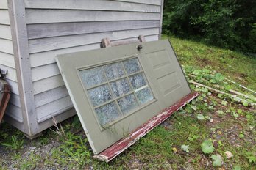
<svg viewBox="0 0 256 170"><path fill-rule="evenodd" d="M168 37L163 36L163 39ZM210 47L201 42L171 38L181 64L208 67L256 91L256 56Z"/></svg>

